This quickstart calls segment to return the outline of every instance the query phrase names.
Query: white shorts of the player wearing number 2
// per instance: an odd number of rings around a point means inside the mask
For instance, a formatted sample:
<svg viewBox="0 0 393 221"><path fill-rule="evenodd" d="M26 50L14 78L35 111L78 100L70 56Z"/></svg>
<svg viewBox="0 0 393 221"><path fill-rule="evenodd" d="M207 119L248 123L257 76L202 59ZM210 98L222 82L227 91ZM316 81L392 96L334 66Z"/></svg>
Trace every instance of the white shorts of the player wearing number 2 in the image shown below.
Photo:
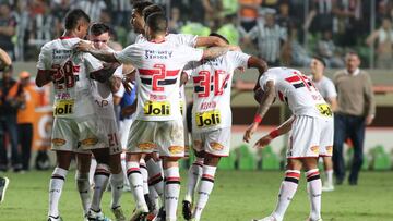
<svg viewBox="0 0 393 221"><path fill-rule="evenodd" d="M184 135L181 120L140 121L130 128L128 152L158 151L162 157L184 157Z"/></svg>

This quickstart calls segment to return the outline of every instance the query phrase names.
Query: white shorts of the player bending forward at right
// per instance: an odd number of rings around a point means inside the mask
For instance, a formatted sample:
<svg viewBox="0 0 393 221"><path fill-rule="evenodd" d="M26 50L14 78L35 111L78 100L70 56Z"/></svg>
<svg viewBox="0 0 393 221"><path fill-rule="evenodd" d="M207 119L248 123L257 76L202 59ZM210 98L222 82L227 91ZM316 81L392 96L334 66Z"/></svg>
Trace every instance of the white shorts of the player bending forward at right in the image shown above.
<svg viewBox="0 0 393 221"><path fill-rule="evenodd" d="M287 158L332 156L333 131L333 118L295 116Z"/></svg>

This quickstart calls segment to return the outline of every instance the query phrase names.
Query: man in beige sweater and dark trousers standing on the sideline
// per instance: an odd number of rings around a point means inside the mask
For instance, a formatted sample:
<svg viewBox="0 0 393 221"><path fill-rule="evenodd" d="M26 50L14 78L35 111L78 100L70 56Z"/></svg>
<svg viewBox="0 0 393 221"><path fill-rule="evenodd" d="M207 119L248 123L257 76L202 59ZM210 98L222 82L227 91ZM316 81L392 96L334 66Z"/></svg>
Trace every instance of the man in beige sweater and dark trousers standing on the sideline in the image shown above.
<svg viewBox="0 0 393 221"><path fill-rule="evenodd" d="M346 69L334 75L337 89L337 110L334 115L333 167L336 184L345 179L343 144L350 138L354 158L348 177L349 185L357 185L364 161L365 127L370 125L376 114L372 83L367 72L359 70L360 59L356 52L345 57Z"/></svg>

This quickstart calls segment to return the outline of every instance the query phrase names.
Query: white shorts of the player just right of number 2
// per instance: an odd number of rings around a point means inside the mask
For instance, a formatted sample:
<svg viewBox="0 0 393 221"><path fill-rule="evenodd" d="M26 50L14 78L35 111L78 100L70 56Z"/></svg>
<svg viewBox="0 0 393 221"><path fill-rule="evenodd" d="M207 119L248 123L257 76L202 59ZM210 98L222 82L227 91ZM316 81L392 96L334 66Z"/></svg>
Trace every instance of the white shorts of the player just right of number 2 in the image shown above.
<svg viewBox="0 0 393 221"><path fill-rule="evenodd" d="M192 133L193 148L214 156L228 157L230 149L230 127L210 132Z"/></svg>

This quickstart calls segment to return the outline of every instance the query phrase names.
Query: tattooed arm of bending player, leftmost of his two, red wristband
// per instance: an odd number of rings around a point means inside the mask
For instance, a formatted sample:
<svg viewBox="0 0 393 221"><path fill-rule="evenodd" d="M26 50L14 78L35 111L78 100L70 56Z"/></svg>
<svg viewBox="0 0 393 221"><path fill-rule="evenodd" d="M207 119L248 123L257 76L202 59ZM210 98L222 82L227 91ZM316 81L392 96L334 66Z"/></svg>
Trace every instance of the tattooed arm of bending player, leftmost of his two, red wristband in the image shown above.
<svg viewBox="0 0 393 221"><path fill-rule="evenodd" d="M267 110L270 109L270 107L272 106L272 103L274 102L274 99L275 99L274 81L267 81L264 88L265 89L262 95L261 102L258 108L254 121L247 128L245 136L243 136L243 140L247 143L250 142L252 134L257 131L258 125L261 123L263 116L266 114Z"/></svg>

